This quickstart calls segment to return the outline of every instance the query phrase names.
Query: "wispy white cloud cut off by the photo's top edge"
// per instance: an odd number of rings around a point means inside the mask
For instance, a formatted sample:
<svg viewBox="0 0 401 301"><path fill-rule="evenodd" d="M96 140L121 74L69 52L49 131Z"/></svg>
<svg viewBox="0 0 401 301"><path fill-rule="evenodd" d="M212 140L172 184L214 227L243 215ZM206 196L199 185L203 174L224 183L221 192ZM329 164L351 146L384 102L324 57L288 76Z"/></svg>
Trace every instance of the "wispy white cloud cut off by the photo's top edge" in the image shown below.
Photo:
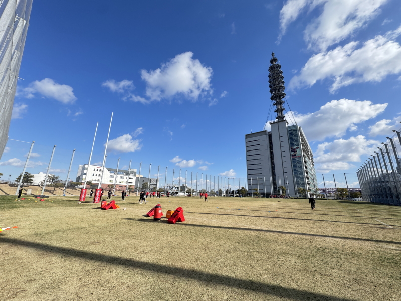
<svg viewBox="0 0 401 301"><path fill-rule="evenodd" d="M309 48L325 51L329 46L352 36L380 13L387 0L288 0L280 11L281 36L302 12L318 8L321 14L304 31Z"/></svg>

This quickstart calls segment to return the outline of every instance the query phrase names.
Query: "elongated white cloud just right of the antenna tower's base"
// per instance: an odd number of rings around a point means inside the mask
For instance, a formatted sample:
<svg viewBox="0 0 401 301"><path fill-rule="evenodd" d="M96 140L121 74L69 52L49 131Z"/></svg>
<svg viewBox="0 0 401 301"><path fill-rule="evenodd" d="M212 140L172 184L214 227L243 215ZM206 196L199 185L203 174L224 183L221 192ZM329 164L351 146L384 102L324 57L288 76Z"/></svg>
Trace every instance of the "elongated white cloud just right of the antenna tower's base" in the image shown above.
<svg viewBox="0 0 401 301"><path fill-rule="evenodd" d="M295 120L308 141L322 141L326 137L341 137L347 130L355 130L358 123L376 117L387 107L387 103L373 104L371 101L350 99L332 100L314 113L293 112ZM286 115L290 120L291 114ZM269 122L265 125L270 130Z"/></svg>

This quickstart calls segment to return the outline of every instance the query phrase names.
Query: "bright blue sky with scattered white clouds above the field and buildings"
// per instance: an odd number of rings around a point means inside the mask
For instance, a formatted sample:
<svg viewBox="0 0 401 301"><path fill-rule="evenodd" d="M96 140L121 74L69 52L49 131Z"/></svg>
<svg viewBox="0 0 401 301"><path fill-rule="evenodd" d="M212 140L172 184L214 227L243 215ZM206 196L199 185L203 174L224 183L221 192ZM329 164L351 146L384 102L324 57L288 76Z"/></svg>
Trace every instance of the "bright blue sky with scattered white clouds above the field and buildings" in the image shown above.
<svg viewBox="0 0 401 301"><path fill-rule="evenodd" d="M114 112L106 166L243 179L244 135L274 119L274 51L317 173L353 172L400 127L400 26L396 0L35 0L9 137L36 141L31 173L57 144L52 169L65 178L76 148L74 179L97 121L102 160ZM7 147L3 179L29 144Z"/></svg>

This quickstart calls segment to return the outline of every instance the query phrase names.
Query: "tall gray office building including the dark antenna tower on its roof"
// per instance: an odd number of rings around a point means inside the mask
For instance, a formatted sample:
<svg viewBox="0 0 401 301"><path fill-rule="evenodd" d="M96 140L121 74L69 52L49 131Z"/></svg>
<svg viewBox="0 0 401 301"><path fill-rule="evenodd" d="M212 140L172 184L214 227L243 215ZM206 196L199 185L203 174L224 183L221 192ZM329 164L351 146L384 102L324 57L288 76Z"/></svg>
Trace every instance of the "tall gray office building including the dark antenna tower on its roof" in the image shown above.
<svg viewBox="0 0 401 301"><path fill-rule="evenodd" d="M269 87L276 121L270 123L271 131L245 135L248 195L308 197L317 193L312 150L302 128L289 126L283 114L284 77L274 53L270 64Z"/></svg>

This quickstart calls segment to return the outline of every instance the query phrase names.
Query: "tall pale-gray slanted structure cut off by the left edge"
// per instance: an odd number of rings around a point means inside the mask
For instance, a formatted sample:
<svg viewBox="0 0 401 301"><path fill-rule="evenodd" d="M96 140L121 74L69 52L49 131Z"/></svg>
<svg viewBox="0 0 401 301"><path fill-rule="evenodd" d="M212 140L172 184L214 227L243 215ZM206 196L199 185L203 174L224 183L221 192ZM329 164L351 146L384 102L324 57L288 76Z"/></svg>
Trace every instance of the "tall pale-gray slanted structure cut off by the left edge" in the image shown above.
<svg viewBox="0 0 401 301"><path fill-rule="evenodd" d="M0 158L7 144L32 0L0 1Z"/></svg>

